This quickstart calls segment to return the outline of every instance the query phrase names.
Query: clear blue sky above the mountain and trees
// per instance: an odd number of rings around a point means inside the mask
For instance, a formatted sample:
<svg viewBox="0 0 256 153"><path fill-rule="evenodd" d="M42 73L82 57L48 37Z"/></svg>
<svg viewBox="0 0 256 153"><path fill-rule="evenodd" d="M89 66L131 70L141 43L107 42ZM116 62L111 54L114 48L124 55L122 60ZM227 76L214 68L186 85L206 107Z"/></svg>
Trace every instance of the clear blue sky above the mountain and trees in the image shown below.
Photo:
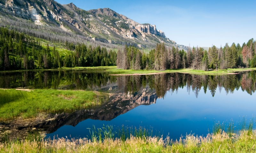
<svg viewBox="0 0 256 153"><path fill-rule="evenodd" d="M156 25L178 44L211 47L256 39L256 0L57 0L84 10L110 8L138 23Z"/></svg>

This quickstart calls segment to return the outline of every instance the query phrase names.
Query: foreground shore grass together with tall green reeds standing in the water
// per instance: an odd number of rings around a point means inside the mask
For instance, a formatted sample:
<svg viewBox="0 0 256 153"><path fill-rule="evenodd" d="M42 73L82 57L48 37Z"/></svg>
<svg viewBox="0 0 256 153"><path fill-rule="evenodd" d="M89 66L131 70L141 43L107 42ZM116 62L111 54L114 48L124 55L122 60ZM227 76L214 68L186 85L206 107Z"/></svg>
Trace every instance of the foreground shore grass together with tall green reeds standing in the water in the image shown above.
<svg viewBox="0 0 256 153"><path fill-rule="evenodd" d="M236 153L256 152L256 131L253 130L253 119L242 119L238 124L240 131L230 136L224 129L232 130L233 121L230 124L216 122L216 132L207 136L188 134L179 140L170 140L167 136L154 136L153 128L117 128L105 126L91 130L91 138L68 139L40 137L39 131L31 132L25 140L7 139L0 142L0 152L206 152L206 153ZM235 128L234 128L235 129ZM133 132L131 132L133 131ZM127 135L130 136L127 136ZM125 138L125 139L124 139Z"/></svg>

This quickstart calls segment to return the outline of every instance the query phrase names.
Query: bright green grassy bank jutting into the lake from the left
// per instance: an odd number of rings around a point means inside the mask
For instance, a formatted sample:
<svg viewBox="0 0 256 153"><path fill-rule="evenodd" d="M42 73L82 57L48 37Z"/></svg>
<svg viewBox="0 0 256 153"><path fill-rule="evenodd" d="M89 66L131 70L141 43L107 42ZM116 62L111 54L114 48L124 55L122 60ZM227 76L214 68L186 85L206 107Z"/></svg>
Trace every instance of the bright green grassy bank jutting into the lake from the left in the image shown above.
<svg viewBox="0 0 256 153"><path fill-rule="evenodd" d="M103 93L93 91L59 91L0 89L0 120L18 116L34 117L38 112L69 112L99 105Z"/></svg>

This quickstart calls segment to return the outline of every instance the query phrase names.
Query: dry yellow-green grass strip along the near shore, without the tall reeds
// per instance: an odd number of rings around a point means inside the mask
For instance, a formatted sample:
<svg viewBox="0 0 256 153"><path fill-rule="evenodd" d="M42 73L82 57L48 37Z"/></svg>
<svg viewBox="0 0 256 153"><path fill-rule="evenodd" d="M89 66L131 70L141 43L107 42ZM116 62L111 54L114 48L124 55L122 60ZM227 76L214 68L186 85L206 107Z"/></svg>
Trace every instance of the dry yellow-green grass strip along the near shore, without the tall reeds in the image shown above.
<svg viewBox="0 0 256 153"><path fill-rule="evenodd" d="M11 140L0 143L0 152L256 152L256 133L241 131L229 136L225 132L208 134L206 137L186 135L185 139L172 141L167 137L134 137L126 139L106 138L103 141L91 141L86 138L68 140L27 139L24 141Z"/></svg>

